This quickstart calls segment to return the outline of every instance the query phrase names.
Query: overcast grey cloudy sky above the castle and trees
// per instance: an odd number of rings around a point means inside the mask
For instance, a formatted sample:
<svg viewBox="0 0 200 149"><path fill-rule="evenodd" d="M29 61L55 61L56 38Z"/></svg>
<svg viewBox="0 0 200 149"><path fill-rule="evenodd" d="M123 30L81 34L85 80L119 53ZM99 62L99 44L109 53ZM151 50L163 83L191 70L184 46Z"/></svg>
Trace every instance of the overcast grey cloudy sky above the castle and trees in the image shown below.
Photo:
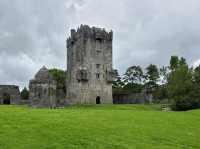
<svg viewBox="0 0 200 149"><path fill-rule="evenodd" d="M114 68L200 63L199 0L0 0L0 84L27 86L40 67L66 68L80 24L114 31Z"/></svg>

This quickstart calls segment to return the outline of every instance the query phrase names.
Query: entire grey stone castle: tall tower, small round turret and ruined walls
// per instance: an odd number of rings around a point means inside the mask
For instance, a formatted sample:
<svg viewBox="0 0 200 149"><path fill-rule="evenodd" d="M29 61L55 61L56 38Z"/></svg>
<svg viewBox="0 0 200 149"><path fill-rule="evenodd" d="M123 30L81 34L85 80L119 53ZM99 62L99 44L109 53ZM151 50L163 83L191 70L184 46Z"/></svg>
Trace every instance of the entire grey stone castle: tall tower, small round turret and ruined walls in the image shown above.
<svg viewBox="0 0 200 149"><path fill-rule="evenodd" d="M32 107L60 107L71 104L111 104L130 99L130 103L144 102L145 94L130 96L115 93L112 83L113 32L81 25L72 29L67 38L66 91L57 87L49 70L43 66L29 81L29 104ZM115 98L113 100L113 97ZM127 101L127 100L126 100ZM0 104L20 103L17 86L0 86Z"/></svg>

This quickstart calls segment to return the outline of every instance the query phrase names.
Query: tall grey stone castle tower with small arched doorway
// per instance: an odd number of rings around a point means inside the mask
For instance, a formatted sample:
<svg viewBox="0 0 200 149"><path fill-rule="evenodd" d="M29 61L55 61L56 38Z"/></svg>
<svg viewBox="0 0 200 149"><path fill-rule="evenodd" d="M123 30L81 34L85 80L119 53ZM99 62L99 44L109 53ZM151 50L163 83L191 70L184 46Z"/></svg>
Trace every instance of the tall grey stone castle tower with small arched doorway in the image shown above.
<svg viewBox="0 0 200 149"><path fill-rule="evenodd" d="M81 25L67 39L67 102L113 103L113 33Z"/></svg>

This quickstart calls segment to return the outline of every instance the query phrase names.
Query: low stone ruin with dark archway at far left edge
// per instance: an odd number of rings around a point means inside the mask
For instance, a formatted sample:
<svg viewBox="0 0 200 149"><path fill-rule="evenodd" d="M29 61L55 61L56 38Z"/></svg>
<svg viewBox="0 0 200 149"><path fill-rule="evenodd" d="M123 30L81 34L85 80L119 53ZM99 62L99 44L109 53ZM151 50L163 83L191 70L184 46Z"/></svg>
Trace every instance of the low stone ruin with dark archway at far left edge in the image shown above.
<svg viewBox="0 0 200 149"><path fill-rule="evenodd" d="M16 85L0 85L0 104L19 104L20 91Z"/></svg>

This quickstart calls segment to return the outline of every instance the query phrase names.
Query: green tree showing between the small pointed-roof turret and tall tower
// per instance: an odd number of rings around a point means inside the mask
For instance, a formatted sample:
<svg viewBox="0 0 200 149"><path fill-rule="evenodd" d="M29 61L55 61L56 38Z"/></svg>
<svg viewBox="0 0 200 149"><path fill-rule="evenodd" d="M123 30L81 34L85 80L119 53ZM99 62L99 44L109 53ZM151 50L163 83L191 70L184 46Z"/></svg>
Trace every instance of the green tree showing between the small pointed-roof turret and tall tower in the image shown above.
<svg viewBox="0 0 200 149"><path fill-rule="evenodd" d="M61 69L49 69L50 74L53 76L53 79L57 83L58 89L63 89L66 92L66 72Z"/></svg>

